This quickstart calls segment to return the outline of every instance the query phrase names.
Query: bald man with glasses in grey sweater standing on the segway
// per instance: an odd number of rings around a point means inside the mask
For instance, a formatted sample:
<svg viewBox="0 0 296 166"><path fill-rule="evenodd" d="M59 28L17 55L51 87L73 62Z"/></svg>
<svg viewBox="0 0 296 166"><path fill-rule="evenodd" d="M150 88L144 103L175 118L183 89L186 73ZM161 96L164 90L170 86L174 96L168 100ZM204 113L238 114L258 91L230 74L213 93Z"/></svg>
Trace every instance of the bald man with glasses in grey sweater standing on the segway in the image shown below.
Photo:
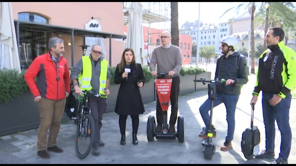
<svg viewBox="0 0 296 166"><path fill-rule="evenodd" d="M179 73L182 67L182 57L180 48L171 44L171 33L164 31L161 33L161 43L152 52L152 57L150 61L150 71L152 76L156 76L158 73L168 73L166 78L172 78L172 87L170 93L170 102L172 105L172 113L170 115L170 127L168 131L170 133L175 132L175 124L177 121L178 114L178 97L180 93L180 78ZM155 70L157 64L157 71ZM160 79L160 76L157 77ZM163 118L162 110L160 107L160 102L157 96L156 104L156 119L157 127L155 131L160 132L162 130Z"/></svg>

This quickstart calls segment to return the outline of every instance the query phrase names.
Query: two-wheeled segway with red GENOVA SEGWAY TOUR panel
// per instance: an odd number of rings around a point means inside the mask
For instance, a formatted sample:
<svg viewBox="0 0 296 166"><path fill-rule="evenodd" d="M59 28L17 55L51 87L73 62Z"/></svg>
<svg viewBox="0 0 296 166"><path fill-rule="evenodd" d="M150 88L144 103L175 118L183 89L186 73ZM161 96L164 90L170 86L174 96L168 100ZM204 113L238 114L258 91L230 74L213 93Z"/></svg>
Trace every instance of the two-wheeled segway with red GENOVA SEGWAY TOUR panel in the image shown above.
<svg viewBox="0 0 296 166"><path fill-rule="evenodd" d="M183 116L178 117L177 131L174 133L168 132L168 107L170 101L170 91L172 87L173 79L165 79L165 75L168 73L157 74L161 76L161 79L155 79L155 88L160 102L161 109L163 111L163 126L160 132L155 131L155 117L149 115L147 121L147 139L148 141L154 141L156 139L176 139L179 142L184 142L184 118Z"/></svg>

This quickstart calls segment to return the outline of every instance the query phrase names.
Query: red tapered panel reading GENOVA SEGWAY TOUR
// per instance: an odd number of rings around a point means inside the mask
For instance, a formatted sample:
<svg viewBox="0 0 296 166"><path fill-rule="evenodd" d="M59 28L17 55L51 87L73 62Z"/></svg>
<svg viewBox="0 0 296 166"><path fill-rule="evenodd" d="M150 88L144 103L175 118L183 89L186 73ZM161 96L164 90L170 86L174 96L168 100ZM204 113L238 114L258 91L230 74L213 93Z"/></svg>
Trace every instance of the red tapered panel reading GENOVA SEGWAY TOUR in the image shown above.
<svg viewBox="0 0 296 166"><path fill-rule="evenodd" d="M170 102L170 90L172 87L173 79L155 79L155 88L160 102L161 109L168 111Z"/></svg>

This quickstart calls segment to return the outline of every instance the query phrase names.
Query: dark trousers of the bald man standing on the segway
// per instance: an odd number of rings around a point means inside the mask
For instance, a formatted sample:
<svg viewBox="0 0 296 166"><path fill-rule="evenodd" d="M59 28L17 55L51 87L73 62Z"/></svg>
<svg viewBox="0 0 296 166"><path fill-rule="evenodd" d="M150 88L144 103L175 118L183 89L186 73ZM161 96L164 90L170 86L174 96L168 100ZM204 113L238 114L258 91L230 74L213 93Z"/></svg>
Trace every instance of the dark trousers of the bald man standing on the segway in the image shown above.
<svg viewBox="0 0 296 166"><path fill-rule="evenodd" d="M157 78L160 79L160 78ZM172 105L172 113L170 114L170 125L174 126L177 121L177 115L178 115L178 97L180 94L180 77L176 76L173 78L172 81L172 87L170 91L170 103ZM160 107L160 102L158 100L157 95L157 102L156 102L156 119L157 124L163 124L163 111Z"/></svg>

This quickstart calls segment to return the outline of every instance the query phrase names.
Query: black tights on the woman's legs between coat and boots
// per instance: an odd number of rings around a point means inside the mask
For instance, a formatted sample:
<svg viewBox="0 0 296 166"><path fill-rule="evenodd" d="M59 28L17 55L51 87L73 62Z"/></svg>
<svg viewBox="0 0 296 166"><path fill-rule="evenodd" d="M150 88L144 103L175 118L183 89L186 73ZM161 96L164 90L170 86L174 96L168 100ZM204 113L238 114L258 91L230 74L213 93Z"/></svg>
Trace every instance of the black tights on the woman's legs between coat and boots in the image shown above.
<svg viewBox="0 0 296 166"><path fill-rule="evenodd" d="M126 119L128 115L119 115L119 128L121 135L126 135ZM131 122L133 125L133 134L138 133L139 115L131 115Z"/></svg>

